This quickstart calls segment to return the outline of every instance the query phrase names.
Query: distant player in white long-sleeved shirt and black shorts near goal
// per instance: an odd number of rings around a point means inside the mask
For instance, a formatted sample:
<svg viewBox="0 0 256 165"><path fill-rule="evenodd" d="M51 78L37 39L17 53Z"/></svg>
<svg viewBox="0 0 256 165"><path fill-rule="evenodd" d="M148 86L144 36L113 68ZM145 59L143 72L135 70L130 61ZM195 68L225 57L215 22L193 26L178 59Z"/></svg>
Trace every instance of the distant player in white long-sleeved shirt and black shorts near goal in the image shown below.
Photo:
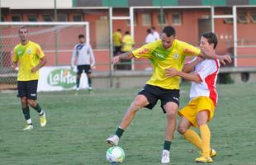
<svg viewBox="0 0 256 165"><path fill-rule="evenodd" d="M71 68L73 69L74 61L77 59L78 73L77 73L77 91L79 90L80 78L83 71L87 74L88 77L88 89L92 90L92 78L91 73L92 69L95 68L95 59L92 52L91 45L85 43L84 35L78 35L79 43L74 46L72 59L71 59Z"/></svg>

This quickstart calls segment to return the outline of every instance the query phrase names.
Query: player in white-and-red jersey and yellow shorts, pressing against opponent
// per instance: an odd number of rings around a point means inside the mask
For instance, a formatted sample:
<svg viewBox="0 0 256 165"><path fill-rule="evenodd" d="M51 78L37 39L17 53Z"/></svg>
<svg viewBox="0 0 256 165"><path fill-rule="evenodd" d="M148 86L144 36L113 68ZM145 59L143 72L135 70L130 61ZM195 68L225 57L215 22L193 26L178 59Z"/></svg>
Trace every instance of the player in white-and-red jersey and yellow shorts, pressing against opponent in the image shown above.
<svg viewBox="0 0 256 165"><path fill-rule="evenodd" d="M218 39L216 34L209 32L201 36L200 48L214 51ZM183 72L175 68L167 69L170 78L179 76L192 81L190 101L178 115L178 132L184 138L196 145L201 150L201 157L196 158L197 163L211 163L211 157L216 156L216 151L210 148L211 131L207 125L214 115L218 100L216 81L219 73L220 62L218 59L201 59L196 57L184 65ZM199 127L201 137L190 126Z"/></svg>

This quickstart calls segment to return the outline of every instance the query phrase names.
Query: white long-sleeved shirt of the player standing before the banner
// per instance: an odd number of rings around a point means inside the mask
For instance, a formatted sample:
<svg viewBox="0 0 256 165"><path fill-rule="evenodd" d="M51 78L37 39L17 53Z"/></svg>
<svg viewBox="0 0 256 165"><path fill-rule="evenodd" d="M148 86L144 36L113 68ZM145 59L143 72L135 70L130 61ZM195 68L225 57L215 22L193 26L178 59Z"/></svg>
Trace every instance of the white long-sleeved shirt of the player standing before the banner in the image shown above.
<svg viewBox="0 0 256 165"><path fill-rule="evenodd" d="M72 53L72 59L71 59L71 65L74 65L74 61L77 59L77 65L84 65L89 64L94 66L95 65L95 59L94 54L92 52L92 47L89 44L80 44L74 46L73 53Z"/></svg>

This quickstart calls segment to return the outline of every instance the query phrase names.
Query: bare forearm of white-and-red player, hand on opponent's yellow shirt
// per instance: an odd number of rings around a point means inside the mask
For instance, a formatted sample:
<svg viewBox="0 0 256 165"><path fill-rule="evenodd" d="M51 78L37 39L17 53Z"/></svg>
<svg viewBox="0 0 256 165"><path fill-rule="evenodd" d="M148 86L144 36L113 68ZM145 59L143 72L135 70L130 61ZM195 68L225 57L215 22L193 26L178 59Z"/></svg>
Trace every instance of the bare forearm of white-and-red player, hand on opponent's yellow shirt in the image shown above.
<svg viewBox="0 0 256 165"><path fill-rule="evenodd" d="M175 68L167 68L165 70L165 75L169 78L179 76L181 78L187 79L187 80L192 81L192 82L197 82L197 83L201 82L201 78L199 77L198 74L196 74L196 73L184 73L182 71L178 71Z"/></svg>

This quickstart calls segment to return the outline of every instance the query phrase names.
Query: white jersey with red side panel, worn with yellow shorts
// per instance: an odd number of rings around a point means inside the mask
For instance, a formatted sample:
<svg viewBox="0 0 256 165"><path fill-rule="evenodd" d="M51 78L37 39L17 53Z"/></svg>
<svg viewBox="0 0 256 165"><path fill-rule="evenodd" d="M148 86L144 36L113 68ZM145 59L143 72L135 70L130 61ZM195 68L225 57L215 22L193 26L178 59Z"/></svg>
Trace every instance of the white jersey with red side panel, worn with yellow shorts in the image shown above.
<svg viewBox="0 0 256 165"><path fill-rule="evenodd" d="M192 59L192 61L196 60ZM192 63L189 62L189 63ZM194 72L199 75L201 82L192 82L190 89L190 99L195 97L210 97L214 104L217 104L218 93L216 92L217 75L220 69L218 59L204 59L195 66Z"/></svg>

